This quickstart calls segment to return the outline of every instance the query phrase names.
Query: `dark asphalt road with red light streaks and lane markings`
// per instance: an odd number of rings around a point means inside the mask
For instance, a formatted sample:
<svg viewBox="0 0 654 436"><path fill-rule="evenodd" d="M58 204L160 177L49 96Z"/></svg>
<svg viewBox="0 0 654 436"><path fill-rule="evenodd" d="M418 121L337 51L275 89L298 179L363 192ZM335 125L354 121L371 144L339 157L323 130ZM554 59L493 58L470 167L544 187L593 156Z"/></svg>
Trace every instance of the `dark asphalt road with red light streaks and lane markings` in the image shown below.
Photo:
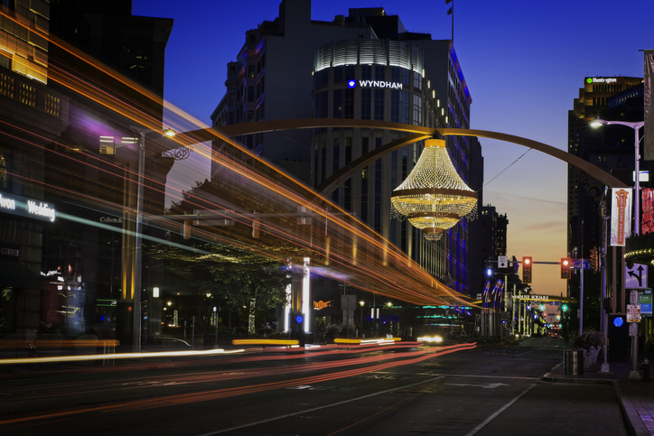
<svg viewBox="0 0 654 436"><path fill-rule="evenodd" d="M563 339L37 366L0 385L0 434L626 435L611 385L541 380Z"/></svg>

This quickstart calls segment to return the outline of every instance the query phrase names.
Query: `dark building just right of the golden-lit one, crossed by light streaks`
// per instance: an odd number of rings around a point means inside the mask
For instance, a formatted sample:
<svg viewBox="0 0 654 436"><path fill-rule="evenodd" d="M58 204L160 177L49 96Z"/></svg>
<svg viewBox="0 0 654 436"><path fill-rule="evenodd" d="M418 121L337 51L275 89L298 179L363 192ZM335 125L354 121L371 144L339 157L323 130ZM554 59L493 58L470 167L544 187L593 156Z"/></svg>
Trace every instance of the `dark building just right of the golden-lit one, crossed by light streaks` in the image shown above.
<svg viewBox="0 0 654 436"><path fill-rule="evenodd" d="M68 265L58 274L65 283L63 292L75 295L68 299L73 307L69 311L84 314L78 316L79 321L64 320L68 329L82 333L89 325L115 329L122 344L133 340L132 306L138 298L136 292L145 290L145 294L151 294L154 285L160 286L163 294L169 292L163 285L161 269L149 268L146 255L141 255L140 260L135 255L135 250L143 253L148 242L145 239L144 244L136 246L136 220L125 210L137 209L141 201L143 213L163 215L161 187L173 160L162 156L156 132L143 126L134 112L130 116L129 111L141 112L143 119L155 125L154 130L160 130L165 46L172 29L172 19L132 15L131 0L51 3L51 34L67 43L65 47L57 44L51 48L52 65L58 69L79 65L85 69L84 80L103 89L107 102L120 96L129 109L121 114L106 107L103 100L94 101L83 93L71 92L72 123L60 141L75 144L76 148L72 153L54 153L49 159L46 177L62 189L50 192L48 197L62 211L84 219L61 220L46 229L43 268L58 271L61 265ZM89 58L92 63L76 61L75 56ZM118 79L113 70L136 85ZM139 86L150 92L141 91ZM107 152L100 146L107 137L115 138L115 144L121 144L120 138L131 138L127 141L132 144L118 145L120 148ZM138 165L141 142L145 148L143 170ZM70 159L75 153L75 159ZM105 171L98 169L98 158L106 166ZM68 171L61 172L59 168ZM145 184L141 199L136 189L139 172ZM71 191L77 195L71 195ZM93 199L102 199L104 206ZM145 237L163 237L163 230L144 221ZM149 299L139 305L147 311L153 309L153 303ZM147 315L145 312L150 325L143 327L149 327L154 334L153 330L158 331L161 326L158 320L151 321L158 317L152 316L152 312ZM61 321L59 318L55 324Z"/></svg>

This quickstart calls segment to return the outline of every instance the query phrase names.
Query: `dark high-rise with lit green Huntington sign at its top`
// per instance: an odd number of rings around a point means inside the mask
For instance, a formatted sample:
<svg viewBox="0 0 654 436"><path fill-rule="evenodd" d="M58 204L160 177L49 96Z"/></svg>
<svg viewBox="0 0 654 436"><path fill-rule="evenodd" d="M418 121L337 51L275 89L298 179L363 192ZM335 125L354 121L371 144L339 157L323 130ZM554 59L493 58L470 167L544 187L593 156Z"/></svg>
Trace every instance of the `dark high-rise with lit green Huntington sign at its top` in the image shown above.
<svg viewBox="0 0 654 436"><path fill-rule="evenodd" d="M604 125L593 128L590 122L594 118L607 121L642 121L643 120L643 85L641 78L631 77L587 77L584 86L579 89L574 107L568 112L568 153L575 154L587 162L593 163L605 172L633 186L635 181L634 131L624 125ZM641 149L641 147L640 147ZM640 153L641 154L641 153ZM649 162L640 161L641 172L648 172ZM648 187L649 181L642 176L641 187ZM589 177L579 169L568 168L567 192L567 250L562 257L589 259L590 251L598 248L602 253L606 244L606 263L608 283L614 289L620 288L621 274L613 280L612 249L603 237L603 217L611 211L611 192L599 181ZM620 251L617 261L620 263ZM604 257L603 257L604 258ZM579 270L573 271L568 281L568 295L578 298L581 287ZM586 271L584 274L584 301L599 301L600 274ZM610 294L609 288L609 293ZM599 320L599 307L584 303L584 325Z"/></svg>

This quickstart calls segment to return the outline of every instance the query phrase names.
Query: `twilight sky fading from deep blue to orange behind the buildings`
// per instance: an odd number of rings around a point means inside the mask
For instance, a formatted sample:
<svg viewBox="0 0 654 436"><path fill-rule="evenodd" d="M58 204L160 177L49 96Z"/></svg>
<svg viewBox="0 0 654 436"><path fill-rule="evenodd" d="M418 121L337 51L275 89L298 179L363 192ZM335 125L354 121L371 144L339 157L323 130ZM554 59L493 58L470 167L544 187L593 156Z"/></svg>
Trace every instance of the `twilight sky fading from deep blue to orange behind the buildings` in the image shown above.
<svg viewBox="0 0 654 436"><path fill-rule="evenodd" d="M246 31L278 16L280 2L133 0L135 15L174 19L164 98L210 125L224 95L227 62L236 60ZM452 17L446 14L452 4L444 0L312 4L313 20L332 21L350 7L382 6L387 14L399 15L407 30L429 32L433 39L452 35ZM584 77L642 77L639 50L654 49L651 0L454 0L454 7L454 50L472 96L471 128L562 150L567 149L567 111ZM558 262L567 255L566 164L519 145L480 141L484 204L509 218L508 255L533 256L535 293L565 294L558 265L538 262ZM176 163L173 172L203 181L208 174L198 172L197 165L208 165L194 154Z"/></svg>

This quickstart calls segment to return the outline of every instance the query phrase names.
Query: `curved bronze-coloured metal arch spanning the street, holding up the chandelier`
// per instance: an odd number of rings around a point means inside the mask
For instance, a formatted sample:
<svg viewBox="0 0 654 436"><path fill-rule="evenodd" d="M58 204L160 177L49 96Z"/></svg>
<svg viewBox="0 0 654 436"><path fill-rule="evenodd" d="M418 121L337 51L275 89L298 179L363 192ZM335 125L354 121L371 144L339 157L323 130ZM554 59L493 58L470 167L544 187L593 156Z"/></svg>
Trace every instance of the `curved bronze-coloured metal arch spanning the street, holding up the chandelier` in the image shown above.
<svg viewBox="0 0 654 436"><path fill-rule="evenodd" d="M488 139L497 139L500 141L505 141L513 144L523 145L528 148L533 148L541 153L549 154L556 159L564 161L570 165L573 165L576 168L588 173L593 176L598 181L601 181L606 186L611 188L629 188L627 184L618 180L612 174L603 171L601 168L593 165L591 162L586 162L584 159L575 156L574 154L567 153L563 150L560 150L551 145L539 143L527 138L516 135L507 135L499 132L491 132L488 130L476 130L476 129L453 129L453 128L430 128L423 127L420 125L406 125L401 123L387 123L384 121L375 121L375 120L357 120L357 119L336 119L336 118L302 118L302 119L285 119L285 120L270 120L270 121L261 121L257 123L241 123L238 125L222 125L217 128L201 129L194 132L189 132L187 135L191 137L197 137L202 141L207 141L210 139L220 139L221 137L229 136L238 136L238 135L250 135L264 132L275 132L278 130L293 130L293 129L306 129L306 128L318 128L318 127L353 127L353 128L369 128L369 129L383 129L383 130L396 130L400 132L407 132L415 135L434 136L434 135L461 135L461 136L478 136ZM402 138L402 140L406 140ZM414 136L418 137L418 136ZM401 141L401 140L398 140ZM416 139L414 142L419 141ZM393 147L396 147L397 141L389 143L383 147L380 147L376 150L373 150L370 153L367 153L357 159L355 162L358 162L356 165L354 162L350 162L350 165L341 169L338 172L334 172L328 180L333 182L329 183L327 186L327 181L325 180L322 185L323 190L321 193L323 195L330 194L338 185L335 184L335 181L347 181L352 174L359 172L362 168L366 167L370 161L374 162L379 157L384 154L391 153L394 151ZM410 144L410 143L406 143ZM401 147L398 147L401 148ZM321 185L321 186L322 186Z"/></svg>

